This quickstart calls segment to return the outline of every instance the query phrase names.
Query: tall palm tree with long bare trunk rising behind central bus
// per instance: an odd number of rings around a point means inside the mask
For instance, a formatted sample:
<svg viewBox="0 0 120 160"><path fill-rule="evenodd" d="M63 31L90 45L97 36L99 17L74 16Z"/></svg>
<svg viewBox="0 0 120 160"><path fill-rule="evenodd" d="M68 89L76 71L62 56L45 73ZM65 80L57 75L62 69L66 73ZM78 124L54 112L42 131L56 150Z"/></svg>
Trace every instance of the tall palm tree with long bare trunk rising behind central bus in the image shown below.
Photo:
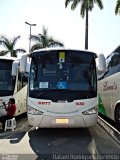
<svg viewBox="0 0 120 160"><path fill-rule="evenodd" d="M102 1L101 0L65 0L65 7L67 7L70 2L72 2L71 10L73 10L73 11L80 3L81 4L80 15L82 18L84 18L84 16L86 16L85 49L88 49L88 12L92 11L92 9L94 8L94 3L96 3L100 9L103 9Z"/></svg>

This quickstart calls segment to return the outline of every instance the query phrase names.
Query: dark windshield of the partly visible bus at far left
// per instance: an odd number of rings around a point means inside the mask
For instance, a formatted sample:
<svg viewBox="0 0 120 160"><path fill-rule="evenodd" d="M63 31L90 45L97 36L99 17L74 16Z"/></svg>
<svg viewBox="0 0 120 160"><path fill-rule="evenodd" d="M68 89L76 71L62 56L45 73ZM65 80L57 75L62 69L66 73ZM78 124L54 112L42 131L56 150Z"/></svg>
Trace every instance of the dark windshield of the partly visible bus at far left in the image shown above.
<svg viewBox="0 0 120 160"><path fill-rule="evenodd" d="M10 60L0 60L0 96L13 94L15 80L11 76L12 62Z"/></svg>

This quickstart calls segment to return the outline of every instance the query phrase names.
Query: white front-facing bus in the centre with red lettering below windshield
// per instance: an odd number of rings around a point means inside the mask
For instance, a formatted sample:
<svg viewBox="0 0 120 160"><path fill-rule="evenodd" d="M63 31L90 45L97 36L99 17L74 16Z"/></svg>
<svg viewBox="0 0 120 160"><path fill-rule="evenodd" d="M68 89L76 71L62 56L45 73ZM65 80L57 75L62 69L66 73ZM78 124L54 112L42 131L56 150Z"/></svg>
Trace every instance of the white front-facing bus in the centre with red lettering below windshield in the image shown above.
<svg viewBox="0 0 120 160"><path fill-rule="evenodd" d="M98 116L96 54L42 49L30 55L29 124L38 128L90 127ZM24 73L27 55L20 60Z"/></svg>

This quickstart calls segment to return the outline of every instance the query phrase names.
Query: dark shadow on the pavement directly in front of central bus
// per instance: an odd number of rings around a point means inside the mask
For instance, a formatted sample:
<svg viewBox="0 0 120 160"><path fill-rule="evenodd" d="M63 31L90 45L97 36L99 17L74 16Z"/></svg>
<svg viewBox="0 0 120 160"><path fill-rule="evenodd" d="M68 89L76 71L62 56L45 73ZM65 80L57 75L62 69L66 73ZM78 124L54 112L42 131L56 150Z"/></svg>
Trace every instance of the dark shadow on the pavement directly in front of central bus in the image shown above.
<svg viewBox="0 0 120 160"><path fill-rule="evenodd" d="M92 137L88 129L61 128L38 129L28 132L29 143L38 156L37 160L72 158L70 156L81 154L90 155L89 145Z"/></svg>

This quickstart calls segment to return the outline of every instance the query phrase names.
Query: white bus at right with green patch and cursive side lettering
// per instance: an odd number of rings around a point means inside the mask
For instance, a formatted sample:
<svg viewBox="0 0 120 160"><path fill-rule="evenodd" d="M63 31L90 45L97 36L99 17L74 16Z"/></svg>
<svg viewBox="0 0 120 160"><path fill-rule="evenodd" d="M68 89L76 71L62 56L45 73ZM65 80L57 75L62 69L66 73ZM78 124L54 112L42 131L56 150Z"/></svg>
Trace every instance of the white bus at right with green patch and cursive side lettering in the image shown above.
<svg viewBox="0 0 120 160"><path fill-rule="evenodd" d="M106 68L98 76L99 112L120 130L120 46L106 58Z"/></svg>

